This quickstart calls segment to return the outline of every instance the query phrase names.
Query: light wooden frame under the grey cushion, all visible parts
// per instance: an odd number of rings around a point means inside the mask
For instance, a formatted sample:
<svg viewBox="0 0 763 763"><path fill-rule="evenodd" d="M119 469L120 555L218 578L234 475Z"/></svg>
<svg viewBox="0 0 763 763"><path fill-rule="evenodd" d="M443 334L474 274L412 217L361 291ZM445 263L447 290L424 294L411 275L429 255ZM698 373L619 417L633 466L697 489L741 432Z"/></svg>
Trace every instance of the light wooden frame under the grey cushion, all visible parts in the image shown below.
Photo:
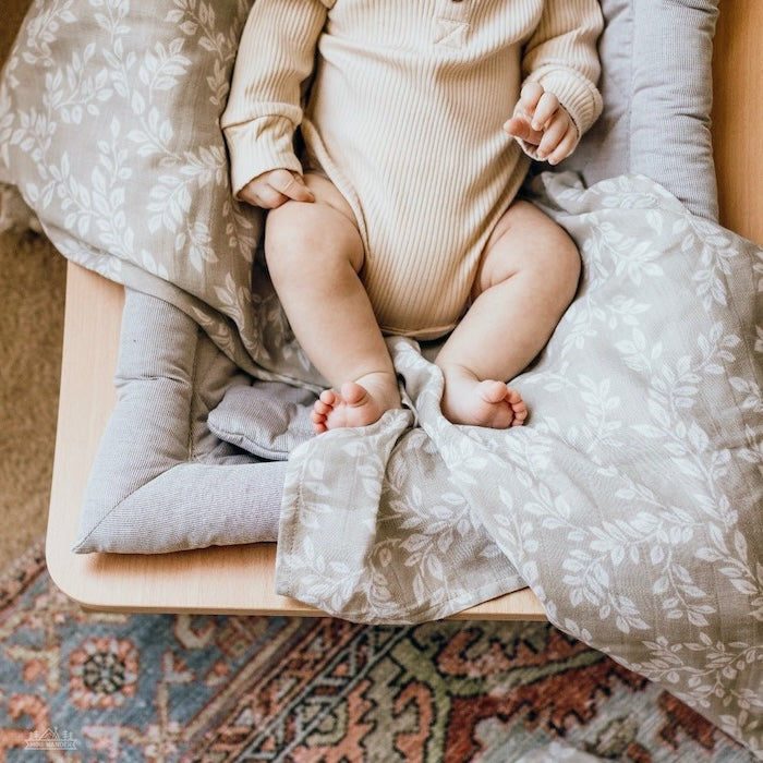
<svg viewBox="0 0 763 763"><path fill-rule="evenodd" d="M724 226L763 242L762 0L724 0L713 59L713 135ZM272 543L161 555L71 550L101 434L116 403L113 375L123 289L68 266L63 362L46 557L52 580L84 607L154 613L322 615L274 591ZM472 607L458 619L542 620L523 589Z"/></svg>

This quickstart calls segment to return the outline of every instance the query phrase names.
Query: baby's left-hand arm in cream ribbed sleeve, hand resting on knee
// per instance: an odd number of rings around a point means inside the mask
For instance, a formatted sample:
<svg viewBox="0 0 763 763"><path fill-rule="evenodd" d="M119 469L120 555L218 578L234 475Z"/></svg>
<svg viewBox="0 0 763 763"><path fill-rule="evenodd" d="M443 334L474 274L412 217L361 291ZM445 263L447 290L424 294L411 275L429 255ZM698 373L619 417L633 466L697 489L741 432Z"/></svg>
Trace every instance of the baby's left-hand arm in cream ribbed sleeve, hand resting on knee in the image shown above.
<svg viewBox="0 0 763 763"><path fill-rule="evenodd" d="M253 197L252 190L244 189L264 173L282 170L286 183L302 173L293 149L302 121L301 86L313 71L317 40L334 1L257 0L252 7L220 119L233 193L243 201ZM279 174L267 185L283 193L290 190L283 181Z"/></svg>

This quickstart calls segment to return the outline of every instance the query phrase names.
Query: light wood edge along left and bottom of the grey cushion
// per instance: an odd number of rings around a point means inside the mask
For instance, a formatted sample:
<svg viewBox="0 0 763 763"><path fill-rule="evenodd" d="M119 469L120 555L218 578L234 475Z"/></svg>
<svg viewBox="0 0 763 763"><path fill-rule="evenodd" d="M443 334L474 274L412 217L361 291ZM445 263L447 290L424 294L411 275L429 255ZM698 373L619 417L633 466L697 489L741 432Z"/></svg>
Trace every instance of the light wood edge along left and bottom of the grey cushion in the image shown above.
<svg viewBox="0 0 763 763"><path fill-rule="evenodd" d="M74 554L80 506L117 401L113 375L124 303L120 286L70 263L63 363L46 556L69 597L98 610L322 616L274 592L275 544L174 554ZM460 619L544 619L529 590L460 613Z"/></svg>

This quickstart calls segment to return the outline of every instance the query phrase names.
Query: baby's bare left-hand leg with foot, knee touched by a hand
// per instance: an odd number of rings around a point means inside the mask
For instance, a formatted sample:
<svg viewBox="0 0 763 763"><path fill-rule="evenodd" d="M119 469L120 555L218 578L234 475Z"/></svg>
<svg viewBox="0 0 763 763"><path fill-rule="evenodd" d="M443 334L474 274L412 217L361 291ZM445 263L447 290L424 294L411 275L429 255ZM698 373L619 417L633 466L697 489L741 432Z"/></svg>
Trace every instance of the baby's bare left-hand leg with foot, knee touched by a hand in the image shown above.
<svg viewBox="0 0 763 763"><path fill-rule="evenodd" d="M336 386L316 402L316 432L363 426L400 407L397 377L358 278L363 243L352 210L320 175L306 174L315 202L268 213L265 257L300 344Z"/></svg>

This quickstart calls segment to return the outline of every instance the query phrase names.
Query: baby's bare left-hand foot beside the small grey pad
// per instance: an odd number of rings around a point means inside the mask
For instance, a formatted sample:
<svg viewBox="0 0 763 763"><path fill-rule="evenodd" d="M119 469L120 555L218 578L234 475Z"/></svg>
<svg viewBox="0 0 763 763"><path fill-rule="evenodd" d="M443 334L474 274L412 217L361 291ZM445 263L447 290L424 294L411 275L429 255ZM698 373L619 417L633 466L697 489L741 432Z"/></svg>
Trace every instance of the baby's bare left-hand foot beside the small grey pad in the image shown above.
<svg viewBox="0 0 763 763"><path fill-rule="evenodd" d="M339 392L324 389L313 405L311 419L316 434L349 426L367 426L385 411L400 408L397 379L387 374L368 374L358 382L346 382ZM362 382L363 385L359 384Z"/></svg>

